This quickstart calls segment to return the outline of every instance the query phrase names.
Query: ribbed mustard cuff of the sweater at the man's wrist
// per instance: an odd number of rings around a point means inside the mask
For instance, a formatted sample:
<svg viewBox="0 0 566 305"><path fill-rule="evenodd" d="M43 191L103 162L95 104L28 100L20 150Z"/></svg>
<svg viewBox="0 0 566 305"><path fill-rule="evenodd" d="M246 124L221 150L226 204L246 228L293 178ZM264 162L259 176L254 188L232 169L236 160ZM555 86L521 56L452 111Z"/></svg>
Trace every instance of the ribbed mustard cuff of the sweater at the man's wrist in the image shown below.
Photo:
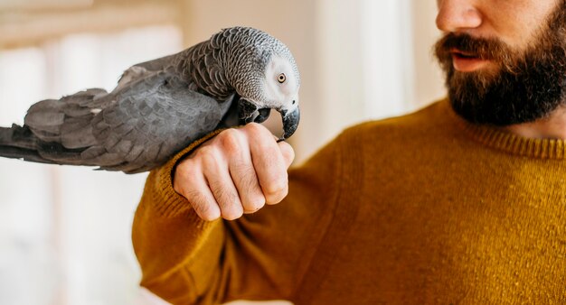
<svg viewBox="0 0 566 305"><path fill-rule="evenodd" d="M159 167L155 171L152 171L147 178L146 187L153 189L146 189L149 193L153 194L152 203L156 212L164 217L175 217L179 214L186 213L191 209L191 205L182 195L177 193L173 188L173 171L177 162L184 158L187 154L193 152L193 150L201 145L202 143L208 141L216 134L220 134L222 130L217 130L211 134L205 135L203 138L191 143L183 151L178 152L175 157L173 157L165 165Z"/></svg>

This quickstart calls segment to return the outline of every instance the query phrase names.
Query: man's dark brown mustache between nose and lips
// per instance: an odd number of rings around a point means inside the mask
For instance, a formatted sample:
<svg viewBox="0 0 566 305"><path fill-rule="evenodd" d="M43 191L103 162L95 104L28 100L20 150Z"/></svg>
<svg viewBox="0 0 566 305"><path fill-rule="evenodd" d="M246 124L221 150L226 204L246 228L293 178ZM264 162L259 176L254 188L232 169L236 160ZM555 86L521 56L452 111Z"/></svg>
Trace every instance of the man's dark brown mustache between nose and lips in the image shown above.
<svg viewBox="0 0 566 305"><path fill-rule="evenodd" d="M455 49L482 60L506 61L511 54L505 42L493 38L476 38L467 33L450 32L435 45L435 52L439 59L451 58L451 51Z"/></svg>

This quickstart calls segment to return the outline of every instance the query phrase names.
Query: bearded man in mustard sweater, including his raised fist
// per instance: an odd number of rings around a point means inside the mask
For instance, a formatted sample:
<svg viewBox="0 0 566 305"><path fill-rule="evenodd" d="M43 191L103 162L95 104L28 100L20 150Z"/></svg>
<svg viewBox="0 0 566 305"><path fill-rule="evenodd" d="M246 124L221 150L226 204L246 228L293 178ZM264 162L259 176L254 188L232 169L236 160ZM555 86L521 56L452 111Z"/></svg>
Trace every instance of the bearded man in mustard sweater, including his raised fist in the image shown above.
<svg viewBox="0 0 566 305"><path fill-rule="evenodd" d="M141 284L174 304L565 303L566 2L438 5L447 99L290 171L251 124L151 172Z"/></svg>

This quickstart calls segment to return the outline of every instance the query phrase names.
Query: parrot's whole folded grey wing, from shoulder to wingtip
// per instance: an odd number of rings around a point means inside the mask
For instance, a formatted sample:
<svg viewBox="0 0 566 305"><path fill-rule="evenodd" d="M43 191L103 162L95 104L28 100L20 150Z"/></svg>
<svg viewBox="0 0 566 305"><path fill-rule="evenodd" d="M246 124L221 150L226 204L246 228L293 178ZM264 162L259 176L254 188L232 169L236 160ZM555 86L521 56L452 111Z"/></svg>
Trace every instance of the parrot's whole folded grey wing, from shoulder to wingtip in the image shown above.
<svg viewBox="0 0 566 305"><path fill-rule="evenodd" d="M91 97L89 103L73 97L65 97L64 105L62 99L52 101L59 103L59 112L42 109L53 116L49 120L38 120L42 113L33 107L26 116L26 125L41 140L39 154L54 163L149 171L211 133L222 120L217 100L189 90L186 82L165 71L131 81L104 97ZM66 107L77 109L67 114Z"/></svg>

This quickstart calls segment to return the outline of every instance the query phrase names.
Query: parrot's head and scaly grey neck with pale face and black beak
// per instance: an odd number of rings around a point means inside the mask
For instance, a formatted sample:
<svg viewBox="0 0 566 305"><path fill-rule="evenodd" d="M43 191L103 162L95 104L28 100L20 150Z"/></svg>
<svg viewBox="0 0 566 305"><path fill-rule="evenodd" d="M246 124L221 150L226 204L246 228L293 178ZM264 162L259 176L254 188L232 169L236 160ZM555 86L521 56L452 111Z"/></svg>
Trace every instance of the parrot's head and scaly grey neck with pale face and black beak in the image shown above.
<svg viewBox="0 0 566 305"><path fill-rule="evenodd" d="M261 123L277 110L283 120L283 139L295 133L300 119L297 64L288 47L266 32L252 28L240 31L231 42L231 83L240 97L242 124ZM234 46L234 44L236 46Z"/></svg>

